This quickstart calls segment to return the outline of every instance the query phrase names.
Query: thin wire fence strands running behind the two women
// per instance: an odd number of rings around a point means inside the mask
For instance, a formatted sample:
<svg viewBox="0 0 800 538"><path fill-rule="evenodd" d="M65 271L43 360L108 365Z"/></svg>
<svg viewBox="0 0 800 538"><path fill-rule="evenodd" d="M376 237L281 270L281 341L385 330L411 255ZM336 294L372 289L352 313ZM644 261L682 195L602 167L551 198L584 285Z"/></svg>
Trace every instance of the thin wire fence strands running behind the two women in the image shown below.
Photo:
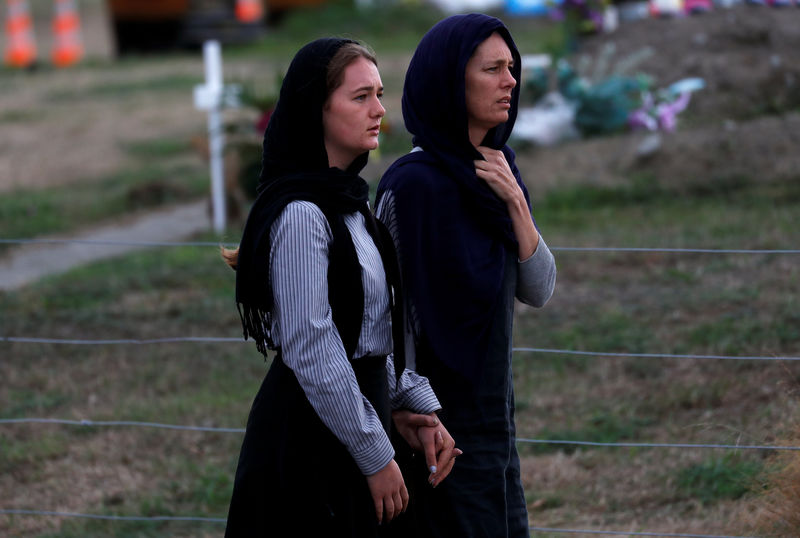
<svg viewBox="0 0 800 538"><path fill-rule="evenodd" d="M57 244L57 243L82 243L91 245L114 245L131 247L219 247L221 242L213 241L115 241L115 240L81 240L81 239L0 239L0 244ZM600 252L600 253L673 253L673 254L744 254L744 255L785 255L800 254L800 249L705 249L705 248L645 248L645 247L550 247L552 251L560 252ZM49 337L7 336L0 335L0 343L16 344L46 344L46 345L158 345L167 343L235 343L244 342L242 338L235 337L197 337L174 336L151 339L65 339ZM561 354L577 355L598 358L660 358L660 359L692 359L692 360L737 360L737 361L800 361L797 356L728 356L728 355L692 355L670 353L626 353L607 351L586 351L571 349L547 349L534 347L515 347L513 351L531 354ZM41 417L3 418L0 424L55 424L81 427L142 427L167 430L210 432L210 433L244 433L243 428L226 428L212 426L193 426L181 424L164 424L158 422L141 422L127 420L90 420L90 419L58 419ZM592 446L608 448L677 448L677 449L721 449L721 450L769 450L769 451L800 451L800 446L781 445L730 445L730 444L692 444L692 443L648 443L648 442L594 442L564 439L532 439L517 438L518 443L551 444ZM60 512L35 509L0 509L0 515L7 516L51 516L63 518L84 518L109 521L149 521L149 522L193 522L224 524L225 518L197 517L197 516L125 516L107 514L87 514L78 512ZM691 533L666 533L647 531L612 531L595 529L567 529L531 526L534 534L583 534L583 535L615 535L615 536L654 536L654 537L679 537L679 538L751 538L745 536L727 536L714 534Z"/></svg>

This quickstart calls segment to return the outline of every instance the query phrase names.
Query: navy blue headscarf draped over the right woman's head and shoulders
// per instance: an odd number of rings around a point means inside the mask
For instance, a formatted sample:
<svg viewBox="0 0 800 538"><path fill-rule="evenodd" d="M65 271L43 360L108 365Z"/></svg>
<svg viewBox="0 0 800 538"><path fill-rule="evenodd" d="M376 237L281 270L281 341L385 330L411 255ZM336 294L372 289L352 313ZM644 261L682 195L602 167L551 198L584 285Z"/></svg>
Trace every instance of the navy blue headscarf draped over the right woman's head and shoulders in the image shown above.
<svg viewBox="0 0 800 538"><path fill-rule="evenodd" d="M447 366L476 381L489 350L505 260L518 244L508 210L475 173L481 154L469 140L465 70L493 33L514 58L508 121L484 146L502 150L528 200L505 145L517 116L520 55L505 25L482 14L455 15L422 38L406 73L403 118L423 151L398 159L378 186L378 203L394 198L406 290L422 328L422 344ZM530 206L530 202L528 202Z"/></svg>

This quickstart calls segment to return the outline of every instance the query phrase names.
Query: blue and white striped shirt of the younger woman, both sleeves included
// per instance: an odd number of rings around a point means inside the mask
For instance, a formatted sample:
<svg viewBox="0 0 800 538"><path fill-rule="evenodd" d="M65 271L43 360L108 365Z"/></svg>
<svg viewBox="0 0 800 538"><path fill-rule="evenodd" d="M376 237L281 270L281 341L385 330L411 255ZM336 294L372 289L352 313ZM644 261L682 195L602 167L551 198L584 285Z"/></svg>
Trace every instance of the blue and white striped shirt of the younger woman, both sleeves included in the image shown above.
<svg viewBox="0 0 800 538"><path fill-rule="evenodd" d="M364 227L364 216L344 216L353 238L364 287L364 317L355 357L392 351L389 290L380 253ZM286 206L270 230L270 279L274 295L272 336L283 361L323 423L365 475L394 457L372 404L361 394L328 302L328 248L333 233L314 204ZM356 359L357 360L357 359ZM386 361L392 409L431 413L441 408L428 380L405 370L395 385L392 356Z"/></svg>

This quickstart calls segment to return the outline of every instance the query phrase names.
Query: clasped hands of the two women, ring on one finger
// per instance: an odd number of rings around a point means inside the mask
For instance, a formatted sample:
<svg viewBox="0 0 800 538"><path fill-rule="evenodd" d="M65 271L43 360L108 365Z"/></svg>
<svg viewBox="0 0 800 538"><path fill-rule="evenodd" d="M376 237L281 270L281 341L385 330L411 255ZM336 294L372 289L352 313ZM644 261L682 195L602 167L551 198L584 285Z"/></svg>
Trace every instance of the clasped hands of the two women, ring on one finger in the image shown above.
<svg viewBox="0 0 800 538"><path fill-rule="evenodd" d="M425 454L425 464L431 474L428 482L436 486L453 470L456 457L463 452L455 447L455 441L436 413L421 415L399 409L392 411L395 427L408 446Z"/></svg>

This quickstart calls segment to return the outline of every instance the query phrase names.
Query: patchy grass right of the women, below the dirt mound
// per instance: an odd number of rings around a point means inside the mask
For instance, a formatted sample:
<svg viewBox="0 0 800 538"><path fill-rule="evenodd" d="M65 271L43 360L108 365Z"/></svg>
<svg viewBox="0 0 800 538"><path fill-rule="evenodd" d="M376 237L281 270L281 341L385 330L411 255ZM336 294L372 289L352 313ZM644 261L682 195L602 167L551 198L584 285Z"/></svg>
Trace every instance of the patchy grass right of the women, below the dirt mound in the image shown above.
<svg viewBox="0 0 800 538"><path fill-rule="evenodd" d="M734 176L658 184L634 176L615 186L555 187L536 201L535 215L550 246L793 248L800 241L792 224L795 183ZM793 255L555 256L554 297L543 310L518 309L515 346L800 354ZM520 437L771 444L789 437L798 420L794 362L519 352L513 366ZM702 451L547 444L520 451L537 525L634 530L628 525L636 520L649 523L635 530L686 532L689 521L705 521L694 528L752 534L740 514L752 502L746 492L759 453L708 458ZM553 467L564 470L544 470ZM550 506L549 498L560 504ZM682 523L667 523L673 517Z"/></svg>

